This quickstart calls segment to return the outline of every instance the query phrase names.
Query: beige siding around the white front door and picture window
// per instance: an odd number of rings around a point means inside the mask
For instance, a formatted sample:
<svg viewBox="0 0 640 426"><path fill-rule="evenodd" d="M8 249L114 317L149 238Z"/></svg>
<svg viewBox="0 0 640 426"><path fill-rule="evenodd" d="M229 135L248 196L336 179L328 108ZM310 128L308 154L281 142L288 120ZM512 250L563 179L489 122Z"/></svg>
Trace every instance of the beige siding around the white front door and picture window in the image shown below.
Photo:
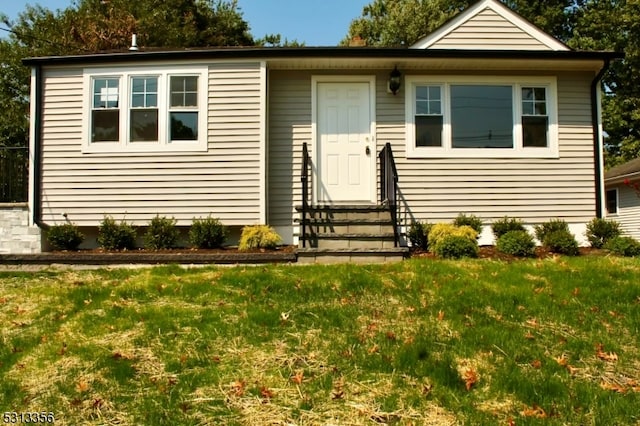
<svg viewBox="0 0 640 426"><path fill-rule="evenodd" d="M300 153L302 143L312 139L315 74L320 73L270 73L269 222L276 226L292 226L294 206L301 203ZM595 215L591 74L558 75L558 159L407 159L405 92L387 93L388 70L362 72L371 74L376 75L376 152L386 142L393 147L405 224L449 221L459 213L487 222L508 215L529 224L555 217L585 223Z"/></svg>

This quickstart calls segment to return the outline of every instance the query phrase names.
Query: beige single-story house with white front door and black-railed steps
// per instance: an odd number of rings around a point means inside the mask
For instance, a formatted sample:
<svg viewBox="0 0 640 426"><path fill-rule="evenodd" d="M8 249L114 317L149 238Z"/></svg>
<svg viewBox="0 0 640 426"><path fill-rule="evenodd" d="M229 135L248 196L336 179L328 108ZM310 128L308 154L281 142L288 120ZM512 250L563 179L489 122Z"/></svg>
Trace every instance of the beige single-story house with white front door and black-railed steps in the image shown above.
<svg viewBox="0 0 640 426"><path fill-rule="evenodd" d="M31 221L211 214L314 246L357 208L390 214L391 247L459 213L486 222L481 243L505 215L580 238L604 213L599 81L618 57L482 0L406 48L29 58Z"/></svg>

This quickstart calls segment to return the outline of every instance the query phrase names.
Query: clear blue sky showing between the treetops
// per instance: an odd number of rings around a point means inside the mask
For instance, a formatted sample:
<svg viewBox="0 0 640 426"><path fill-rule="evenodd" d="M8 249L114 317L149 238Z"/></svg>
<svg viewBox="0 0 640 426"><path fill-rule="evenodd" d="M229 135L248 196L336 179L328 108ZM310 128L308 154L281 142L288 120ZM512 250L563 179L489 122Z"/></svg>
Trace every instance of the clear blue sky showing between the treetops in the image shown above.
<svg viewBox="0 0 640 426"><path fill-rule="evenodd" d="M372 1L238 0L238 5L255 38L279 33L283 41L297 40L307 46L335 46L347 35L351 21ZM27 4L56 10L66 9L72 3L72 0L0 0L0 13L13 19ZM0 37L5 35L6 32L0 31Z"/></svg>

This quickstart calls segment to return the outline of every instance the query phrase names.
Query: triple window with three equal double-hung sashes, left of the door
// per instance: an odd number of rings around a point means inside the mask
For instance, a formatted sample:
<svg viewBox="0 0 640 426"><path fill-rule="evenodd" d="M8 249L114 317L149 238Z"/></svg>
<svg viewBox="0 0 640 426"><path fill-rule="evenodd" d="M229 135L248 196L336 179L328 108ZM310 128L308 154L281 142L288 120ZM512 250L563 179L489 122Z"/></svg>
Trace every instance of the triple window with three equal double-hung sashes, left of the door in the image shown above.
<svg viewBox="0 0 640 426"><path fill-rule="evenodd" d="M87 69L85 152L205 151L206 67Z"/></svg>

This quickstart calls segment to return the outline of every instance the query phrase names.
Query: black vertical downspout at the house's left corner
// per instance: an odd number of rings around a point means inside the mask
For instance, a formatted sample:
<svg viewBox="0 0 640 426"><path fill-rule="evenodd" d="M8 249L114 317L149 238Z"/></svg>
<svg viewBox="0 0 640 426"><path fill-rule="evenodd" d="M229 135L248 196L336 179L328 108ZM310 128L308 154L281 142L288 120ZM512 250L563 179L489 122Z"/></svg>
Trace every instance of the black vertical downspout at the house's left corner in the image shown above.
<svg viewBox="0 0 640 426"><path fill-rule="evenodd" d="M35 73L35 117L33 119L33 223L44 228L42 223L42 110L43 110L43 79L42 66L34 65Z"/></svg>

